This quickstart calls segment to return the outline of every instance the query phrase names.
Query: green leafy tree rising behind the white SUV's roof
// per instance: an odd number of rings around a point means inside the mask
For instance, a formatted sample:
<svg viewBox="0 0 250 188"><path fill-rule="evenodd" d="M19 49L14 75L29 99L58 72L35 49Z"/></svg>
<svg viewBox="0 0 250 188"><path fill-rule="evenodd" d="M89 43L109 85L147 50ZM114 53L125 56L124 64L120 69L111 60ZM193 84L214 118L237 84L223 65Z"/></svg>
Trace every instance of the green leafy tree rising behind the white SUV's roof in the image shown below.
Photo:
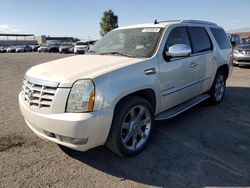
<svg viewBox="0 0 250 188"><path fill-rule="evenodd" d="M112 10L104 11L100 22L100 27L100 35L104 36L109 31L118 27L118 16L115 15Z"/></svg>

